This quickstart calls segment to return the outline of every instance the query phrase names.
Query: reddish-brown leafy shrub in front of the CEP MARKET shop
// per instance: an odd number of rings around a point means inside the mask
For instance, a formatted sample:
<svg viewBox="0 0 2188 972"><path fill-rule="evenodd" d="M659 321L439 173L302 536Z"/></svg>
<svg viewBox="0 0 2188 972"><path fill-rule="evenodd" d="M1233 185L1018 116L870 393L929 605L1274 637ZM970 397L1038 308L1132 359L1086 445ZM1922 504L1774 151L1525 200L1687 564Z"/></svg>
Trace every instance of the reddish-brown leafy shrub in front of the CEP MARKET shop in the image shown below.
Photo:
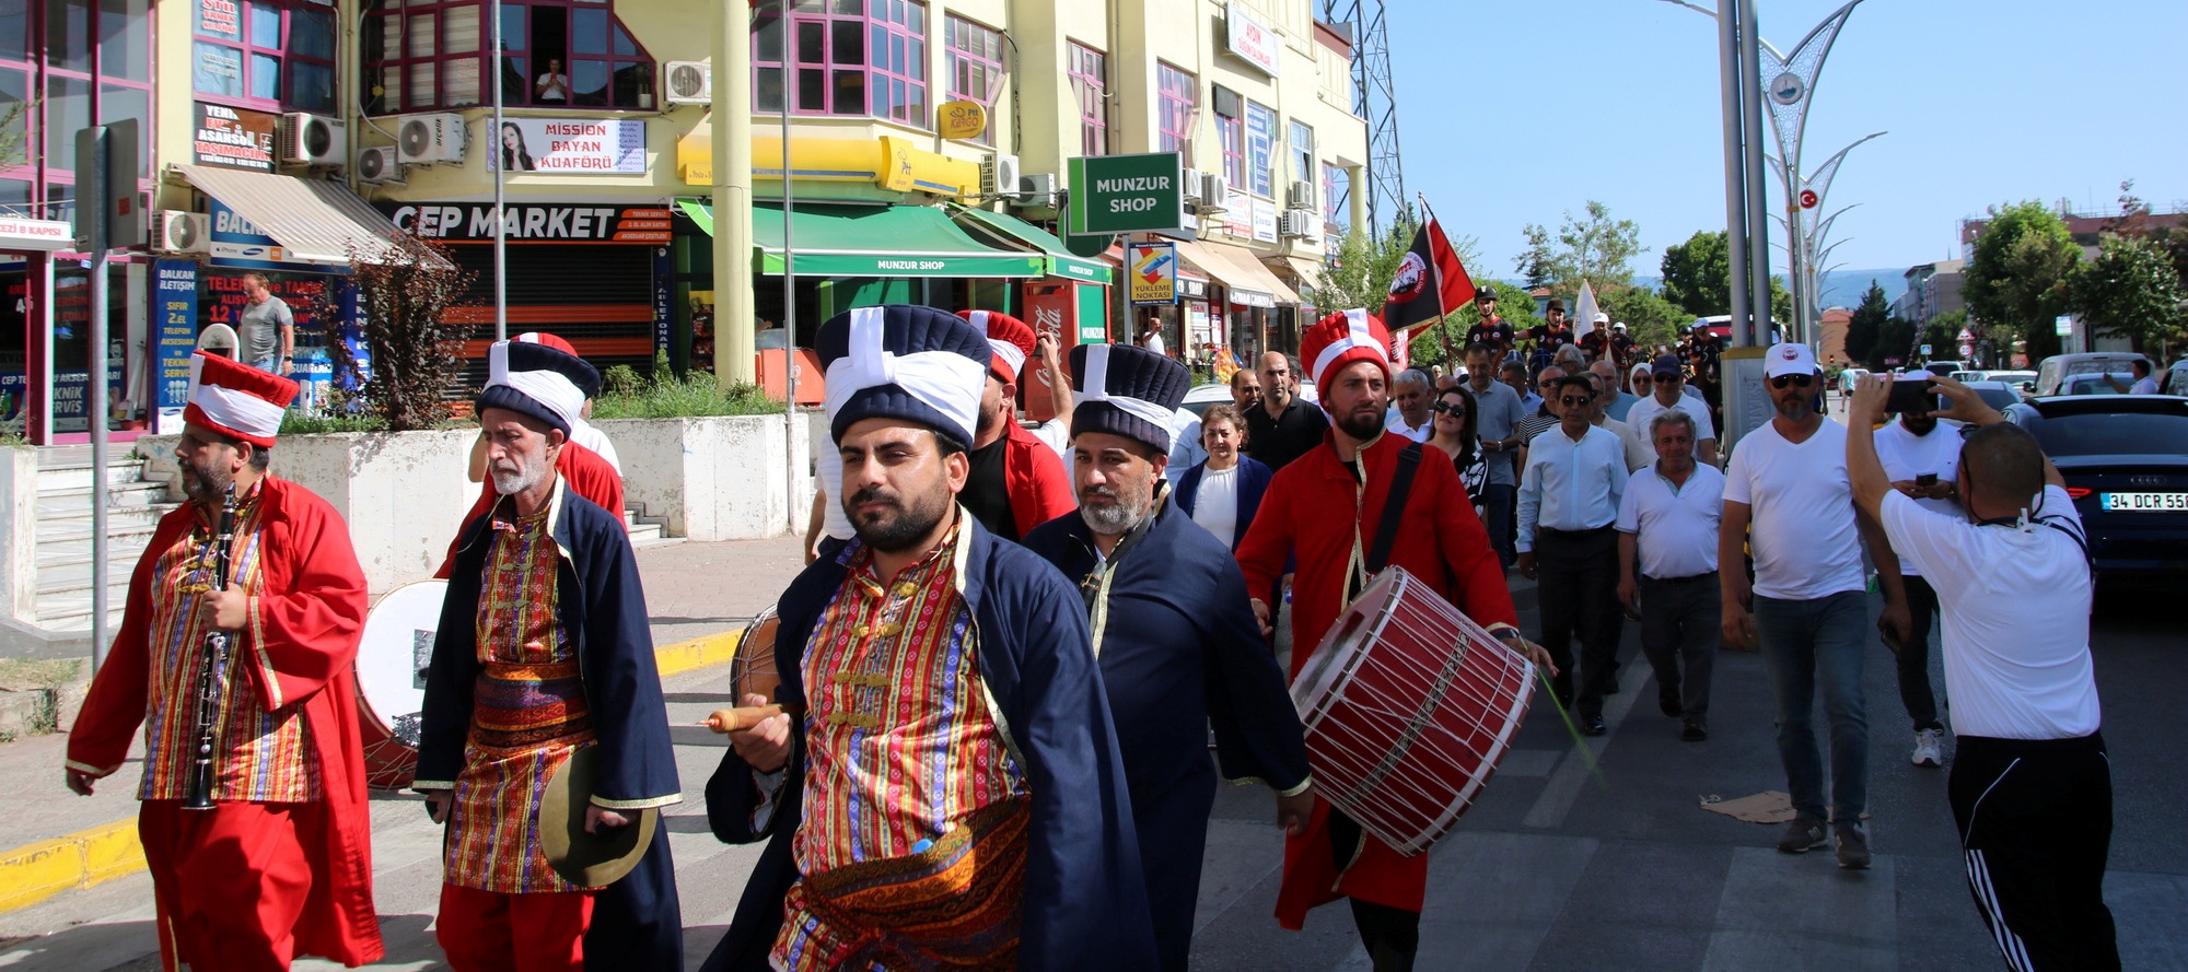
<svg viewBox="0 0 2188 972"><path fill-rule="evenodd" d="M446 394L464 374L470 324L449 320L449 309L470 289L475 271L462 269L440 243L398 232L374 245L350 243L350 285L372 374L363 374L350 346L335 333L341 313L328 287L315 315L328 331L335 372L359 387L365 412L387 431L431 429L449 418Z"/></svg>

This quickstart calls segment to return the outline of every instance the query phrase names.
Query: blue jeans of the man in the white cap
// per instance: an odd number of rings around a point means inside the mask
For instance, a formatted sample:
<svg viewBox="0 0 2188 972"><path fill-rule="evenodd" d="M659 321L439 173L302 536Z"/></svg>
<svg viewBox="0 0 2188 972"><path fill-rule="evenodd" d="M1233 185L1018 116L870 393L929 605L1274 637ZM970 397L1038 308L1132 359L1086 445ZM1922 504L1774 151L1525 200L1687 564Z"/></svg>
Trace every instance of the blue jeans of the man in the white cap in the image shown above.
<svg viewBox="0 0 2188 972"><path fill-rule="evenodd" d="M1731 606L1731 604L1729 604ZM1755 595L1755 633L1770 692L1779 703L1779 760L1792 808L1823 821L1823 755L1809 725L1816 687L1831 722L1831 821L1858 823L1869 806L1869 714L1862 705L1862 652L1869 595L1840 591L1816 600Z"/></svg>

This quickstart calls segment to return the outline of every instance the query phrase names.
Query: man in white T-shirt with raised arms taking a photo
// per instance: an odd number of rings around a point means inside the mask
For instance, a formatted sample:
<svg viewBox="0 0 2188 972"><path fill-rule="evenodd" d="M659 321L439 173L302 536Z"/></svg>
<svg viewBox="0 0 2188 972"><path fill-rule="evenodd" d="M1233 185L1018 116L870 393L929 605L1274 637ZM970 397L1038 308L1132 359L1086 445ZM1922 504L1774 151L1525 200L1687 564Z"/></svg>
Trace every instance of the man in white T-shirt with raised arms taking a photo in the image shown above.
<svg viewBox="0 0 2188 972"><path fill-rule="evenodd" d="M2011 968L2120 968L2105 858L2111 760L2090 661L2087 539L2035 436L1936 379L1960 449L1965 514L1921 508L1877 462L1869 427L1888 383L1847 405L1853 499L1936 587L1958 753L1947 792L1967 887ZM1744 447L1742 447L1744 449ZM1980 814L1976 810L1982 810Z"/></svg>

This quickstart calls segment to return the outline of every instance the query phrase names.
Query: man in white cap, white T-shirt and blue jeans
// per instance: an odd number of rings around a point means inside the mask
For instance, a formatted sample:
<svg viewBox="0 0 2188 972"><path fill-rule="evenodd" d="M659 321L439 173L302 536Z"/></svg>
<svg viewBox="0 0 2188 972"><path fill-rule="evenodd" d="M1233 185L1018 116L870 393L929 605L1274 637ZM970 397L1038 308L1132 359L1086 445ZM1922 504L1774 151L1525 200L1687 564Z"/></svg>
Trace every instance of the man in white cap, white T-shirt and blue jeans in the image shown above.
<svg viewBox="0 0 2188 972"><path fill-rule="evenodd" d="M1869 867L1869 830L1862 823L1869 810L1864 543L1884 587L1882 626L1895 635L1908 628L1906 591L1884 532L1853 508L1847 427L1816 412L1823 381L1816 355L1805 344L1772 344L1764 352L1764 379L1777 416L1739 440L1724 477L1724 523L1718 532L1718 563L1726 565L1718 571L1724 641L1750 646L1759 635L1770 670L1779 760L1796 814L1779 849L1803 854L1836 838L1838 867L1860 869ZM1755 549L1753 587L1748 571L1737 569L1744 545ZM1831 727L1829 797L1809 725L1818 690ZM1827 821L1831 832L1825 832Z"/></svg>

